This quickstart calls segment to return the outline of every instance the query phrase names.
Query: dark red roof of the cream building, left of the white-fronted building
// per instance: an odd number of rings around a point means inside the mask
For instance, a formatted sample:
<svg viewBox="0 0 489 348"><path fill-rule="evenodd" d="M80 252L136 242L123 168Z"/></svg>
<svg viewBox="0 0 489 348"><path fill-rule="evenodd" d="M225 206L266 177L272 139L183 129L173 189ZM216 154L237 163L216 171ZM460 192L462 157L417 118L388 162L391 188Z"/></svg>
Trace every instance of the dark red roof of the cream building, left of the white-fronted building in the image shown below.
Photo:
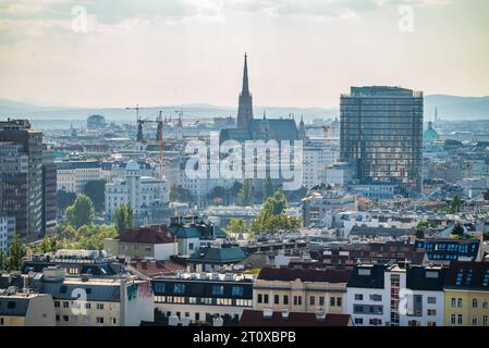
<svg viewBox="0 0 489 348"><path fill-rule="evenodd" d="M261 269L258 279L294 282L328 282L347 283L350 270L293 270L293 269Z"/></svg>

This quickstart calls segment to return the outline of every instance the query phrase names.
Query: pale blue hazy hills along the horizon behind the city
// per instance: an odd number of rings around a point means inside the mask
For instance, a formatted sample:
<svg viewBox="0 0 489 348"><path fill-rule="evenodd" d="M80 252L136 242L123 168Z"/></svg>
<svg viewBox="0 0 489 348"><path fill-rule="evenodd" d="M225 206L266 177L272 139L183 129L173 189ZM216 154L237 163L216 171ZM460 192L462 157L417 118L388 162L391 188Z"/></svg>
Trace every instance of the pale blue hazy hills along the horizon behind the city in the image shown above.
<svg viewBox="0 0 489 348"><path fill-rule="evenodd" d="M456 97L433 95L425 96L425 120L433 119L435 108L438 108L438 116L442 120L481 120L489 119L489 96L488 97ZM159 110L173 117L176 116L176 110L183 110L184 119L211 119L223 116L235 116L235 108L218 107L205 103L193 103L184 105L164 105L144 109L142 116L157 115ZM334 119L339 115L339 109L326 108L276 108L276 107L255 107L255 117L261 117L264 111L267 117L289 117L294 114L296 120L303 115L306 122L314 119ZM7 117L26 117L30 120L85 120L90 114L105 115L108 121L113 122L133 122L135 119L134 110L117 108L57 108L38 107L23 102L0 99L0 119Z"/></svg>

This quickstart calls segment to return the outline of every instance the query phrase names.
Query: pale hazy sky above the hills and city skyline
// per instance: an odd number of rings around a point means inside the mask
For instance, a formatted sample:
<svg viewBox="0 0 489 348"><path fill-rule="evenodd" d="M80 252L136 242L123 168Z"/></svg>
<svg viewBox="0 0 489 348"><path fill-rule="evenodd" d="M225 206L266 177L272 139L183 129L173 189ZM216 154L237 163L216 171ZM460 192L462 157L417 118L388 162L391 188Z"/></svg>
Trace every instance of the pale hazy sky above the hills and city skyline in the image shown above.
<svg viewBox="0 0 489 348"><path fill-rule="evenodd" d="M488 15L488 0L0 0L0 98L235 107L244 52L257 105L338 107L374 84L489 95Z"/></svg>

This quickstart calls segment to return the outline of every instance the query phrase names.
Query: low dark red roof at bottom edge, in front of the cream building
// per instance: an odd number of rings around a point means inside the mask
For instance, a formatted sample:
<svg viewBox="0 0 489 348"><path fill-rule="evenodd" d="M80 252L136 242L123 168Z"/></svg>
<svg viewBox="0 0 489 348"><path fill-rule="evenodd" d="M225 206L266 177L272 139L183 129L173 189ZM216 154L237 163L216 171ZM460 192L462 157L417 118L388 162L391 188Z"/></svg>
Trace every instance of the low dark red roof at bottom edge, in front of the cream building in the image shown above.
<svg viewBox="0 0 489 348"><path fill-rule="evenodd" d="M273 312L271 318L264 318L262 311L245 309L240 320L240 326L349 326L350 314L326 314L323 320L317 320L316 313L290 312L288 319L281 312Z"/></svg>

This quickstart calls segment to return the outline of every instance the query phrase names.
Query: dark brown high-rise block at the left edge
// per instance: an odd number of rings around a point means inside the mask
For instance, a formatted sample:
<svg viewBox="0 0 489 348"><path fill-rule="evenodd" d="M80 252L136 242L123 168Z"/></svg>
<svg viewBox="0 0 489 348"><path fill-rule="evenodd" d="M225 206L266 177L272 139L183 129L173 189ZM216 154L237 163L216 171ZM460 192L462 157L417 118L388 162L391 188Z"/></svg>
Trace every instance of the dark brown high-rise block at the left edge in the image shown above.
<svg viewBox="0 0 489 348"><path fill-rule="evenodd" d="M1 210L16 217L21 235L35 238L42 233L42 133L9 119L0 122L0 144Z"/></svg>

